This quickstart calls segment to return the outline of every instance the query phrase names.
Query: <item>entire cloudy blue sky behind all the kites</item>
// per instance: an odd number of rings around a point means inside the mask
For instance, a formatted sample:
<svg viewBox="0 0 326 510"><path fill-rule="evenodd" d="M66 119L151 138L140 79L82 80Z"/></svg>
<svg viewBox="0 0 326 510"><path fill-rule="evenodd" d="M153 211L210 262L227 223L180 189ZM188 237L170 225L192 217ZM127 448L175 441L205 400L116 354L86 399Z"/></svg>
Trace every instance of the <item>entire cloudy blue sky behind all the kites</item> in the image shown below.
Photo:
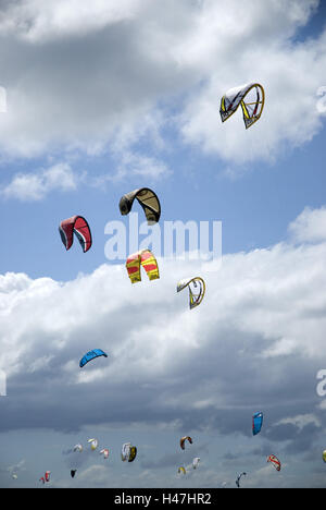
<svg viewBox="0 0 326 510"><path fill-rule="evenodd" d="M325 487L325 2L0 0L0 487ZM246 83L249 130L220 116ZM118 208L143 186L153 229ZM87 253L62 244L74 215ZM208 226L206 259L167 254L172 222ZM155 281L128 279L135 233Z"/></svg>

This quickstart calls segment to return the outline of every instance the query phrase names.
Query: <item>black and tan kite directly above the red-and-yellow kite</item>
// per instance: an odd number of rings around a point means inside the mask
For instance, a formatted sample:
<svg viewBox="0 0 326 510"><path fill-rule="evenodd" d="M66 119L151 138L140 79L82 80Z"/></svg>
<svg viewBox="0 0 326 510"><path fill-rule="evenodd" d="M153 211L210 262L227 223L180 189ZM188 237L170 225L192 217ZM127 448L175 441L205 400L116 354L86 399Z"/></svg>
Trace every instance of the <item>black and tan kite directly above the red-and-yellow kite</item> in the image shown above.
<svg viewBox="0 0 326 510"><path fill-rule="evenodd" d="M148 224L156 223L161 216L161 204L156 194L149 187L140 187L139 190L126 193L118 204L121 214L125 216L130 212L135 198L141 205Z"/></svg>

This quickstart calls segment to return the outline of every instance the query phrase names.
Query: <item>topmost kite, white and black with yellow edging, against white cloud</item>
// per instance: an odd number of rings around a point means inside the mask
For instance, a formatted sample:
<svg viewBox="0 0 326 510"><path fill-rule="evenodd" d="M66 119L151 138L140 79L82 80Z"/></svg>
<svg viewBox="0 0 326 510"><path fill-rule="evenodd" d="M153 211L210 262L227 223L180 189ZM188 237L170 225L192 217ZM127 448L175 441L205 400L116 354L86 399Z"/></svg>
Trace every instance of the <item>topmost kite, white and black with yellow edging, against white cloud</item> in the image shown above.
<svg viewBox="0 0 326 510"><path fill-rule="evenodd" d="M229 89L221 99L221 119L225 122L241 105L246 129L261 117L265 104L265 92L259 83L250 83Z"/></svg>

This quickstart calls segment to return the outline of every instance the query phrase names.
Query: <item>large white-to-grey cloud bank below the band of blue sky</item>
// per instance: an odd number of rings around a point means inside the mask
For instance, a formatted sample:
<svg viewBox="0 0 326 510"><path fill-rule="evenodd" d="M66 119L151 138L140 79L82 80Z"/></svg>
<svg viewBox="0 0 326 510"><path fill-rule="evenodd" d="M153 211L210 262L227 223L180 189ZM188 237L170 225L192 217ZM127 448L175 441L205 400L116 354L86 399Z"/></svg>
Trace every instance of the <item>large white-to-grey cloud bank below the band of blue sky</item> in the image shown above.
<svg viewBox="0 0 326 510"><path fill-rule="evenodd" d="M304 240L323 210L291 224ZM309 226L309 227L306 227ZM303 235L303 233L302 233ZM160 260L161 279L131 286L103 265L66 283L1 277L1 430L142 426L249 437L252 411L266 440L308 454L324 434L316 374L325 364L326 236L224 256L202 275L206 296L188 309L178 275L196 262ZM78 367L90 349L109 359ZM62 399L62 396L65 396ZM199 456L200 457L200 456Z"/></svg>

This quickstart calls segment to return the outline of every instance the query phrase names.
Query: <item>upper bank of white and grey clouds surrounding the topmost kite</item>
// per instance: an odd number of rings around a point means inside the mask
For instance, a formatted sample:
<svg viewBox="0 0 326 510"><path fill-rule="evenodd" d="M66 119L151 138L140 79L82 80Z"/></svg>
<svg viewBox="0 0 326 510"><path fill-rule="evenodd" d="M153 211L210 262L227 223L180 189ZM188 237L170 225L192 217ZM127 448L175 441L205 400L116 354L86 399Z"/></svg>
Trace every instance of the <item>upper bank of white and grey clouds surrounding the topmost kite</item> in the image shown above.
<svg viewBox="0 0 326 510"><path fill-rule="evenodd" d="M2 2L2 154L128 148L143 158L141 173L148 155L137 145L146 139L162 158L173 126L179 141L226 163L271 161L322 127L326 33L296 40L317 8L317 0L286 9L274 0ZM251 81L264 85L266 106L249 139L240 114L222 125L218 108L228 88Z"/></svg>

